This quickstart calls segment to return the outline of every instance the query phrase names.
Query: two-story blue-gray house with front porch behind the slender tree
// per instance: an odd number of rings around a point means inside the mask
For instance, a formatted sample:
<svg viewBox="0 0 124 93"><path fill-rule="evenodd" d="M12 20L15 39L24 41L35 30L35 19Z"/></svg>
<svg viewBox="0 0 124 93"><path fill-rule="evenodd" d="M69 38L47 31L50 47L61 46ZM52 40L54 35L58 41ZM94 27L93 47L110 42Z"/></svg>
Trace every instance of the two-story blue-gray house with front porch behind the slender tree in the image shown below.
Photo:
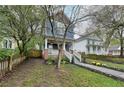
<svg viewBox="0 0 124 93"><path fill-rule="evenodd" d="M68 24L70 21L66 15L64 15L63 19L61 20L61 12L56 14L56 19L53 22L54 25L54 36L51 32L51 25L49 20L46 21L45 24L45 43L44 43L44 51L43 55L44 58L47 58L49 55L57 55L58 54L58 47L61 47L63 36L64 36L64 22ZM64 22L63 22L64 21ZM66 35L66 42L64 44L64 50L69 51L72 43L74 41L74 34L73 34L74 26L71 26Z"/></svg>

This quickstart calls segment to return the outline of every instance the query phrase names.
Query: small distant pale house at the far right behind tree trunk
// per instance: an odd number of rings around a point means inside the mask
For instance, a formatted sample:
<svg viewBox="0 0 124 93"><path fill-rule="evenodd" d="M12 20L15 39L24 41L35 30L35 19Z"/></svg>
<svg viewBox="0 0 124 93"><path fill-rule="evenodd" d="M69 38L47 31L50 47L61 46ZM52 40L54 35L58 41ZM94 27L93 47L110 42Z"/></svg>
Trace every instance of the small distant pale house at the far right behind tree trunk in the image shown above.
<svg viewBox="0 0 124 93"><path fill-rule="evenodd" d="M108 54L109 55L120 55L120 45L113 45L109 47Z"/></svg>

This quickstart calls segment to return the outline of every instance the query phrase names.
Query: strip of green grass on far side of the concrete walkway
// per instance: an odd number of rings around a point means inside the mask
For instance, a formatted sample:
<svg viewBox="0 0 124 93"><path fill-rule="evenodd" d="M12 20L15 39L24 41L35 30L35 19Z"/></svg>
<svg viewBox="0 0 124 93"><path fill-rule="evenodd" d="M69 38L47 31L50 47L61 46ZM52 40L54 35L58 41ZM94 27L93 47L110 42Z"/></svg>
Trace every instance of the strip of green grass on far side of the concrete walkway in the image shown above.
<svg viewBox="0 0 124 93"><path fill-rule="evenodd" d="M111 63L109 61L93 60L93 59L86 59L86 61L88 63L98 62L98 63L106 64L106 66L110 67L110 68L116 68L116 69L124 70L124 64L116 64L116 63Z"/></svg>

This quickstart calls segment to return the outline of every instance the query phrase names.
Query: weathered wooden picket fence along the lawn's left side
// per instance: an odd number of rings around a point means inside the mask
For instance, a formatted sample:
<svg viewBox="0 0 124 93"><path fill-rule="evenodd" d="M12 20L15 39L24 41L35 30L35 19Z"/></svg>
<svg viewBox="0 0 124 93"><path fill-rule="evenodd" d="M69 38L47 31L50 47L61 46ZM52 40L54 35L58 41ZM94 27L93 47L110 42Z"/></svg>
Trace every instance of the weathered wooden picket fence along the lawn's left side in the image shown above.
<svg viewBox="0 0 124 93"><path fill-rule="evenodd" d="M15 59L10 57L8 60L0 61L0 78L5 76L7 72L12 71L15 66L21 64L25 59L26 57L19 57Z"/></svg>

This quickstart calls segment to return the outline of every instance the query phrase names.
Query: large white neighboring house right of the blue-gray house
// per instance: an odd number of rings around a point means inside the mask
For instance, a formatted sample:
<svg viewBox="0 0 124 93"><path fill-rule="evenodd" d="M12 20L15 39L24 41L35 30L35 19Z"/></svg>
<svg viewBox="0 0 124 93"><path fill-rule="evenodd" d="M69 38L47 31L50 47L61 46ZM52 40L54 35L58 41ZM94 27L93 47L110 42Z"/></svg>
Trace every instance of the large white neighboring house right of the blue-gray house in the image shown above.
<svg viewBox="0 0 124 93"><path fill-rule="evenodd" d="M86 54L106 54L103 47L103 41L93 34L85 34L76 39L73 43L73 50L76 50L77 52L85 52Z"/></svg>

